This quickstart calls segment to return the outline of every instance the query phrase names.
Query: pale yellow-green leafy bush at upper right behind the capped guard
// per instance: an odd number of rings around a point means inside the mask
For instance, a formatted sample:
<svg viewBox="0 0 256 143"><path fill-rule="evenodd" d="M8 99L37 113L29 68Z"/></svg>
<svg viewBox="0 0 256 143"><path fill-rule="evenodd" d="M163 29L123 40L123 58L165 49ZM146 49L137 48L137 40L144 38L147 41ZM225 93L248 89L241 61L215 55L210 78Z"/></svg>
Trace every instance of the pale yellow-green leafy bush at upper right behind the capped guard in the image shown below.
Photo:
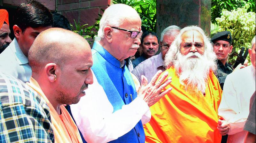
<svg viewBox="0 0 256 143"><path fill-rule="evenodd" d="M222 10L221 17L216 18L221 30L228 30L232 34L233 50L228 63L234 64L241 47L250 48L251 40L255 36L255 12L247 12L249 4L236 10ZM249 55L247 56L249 59Z"/></svg>

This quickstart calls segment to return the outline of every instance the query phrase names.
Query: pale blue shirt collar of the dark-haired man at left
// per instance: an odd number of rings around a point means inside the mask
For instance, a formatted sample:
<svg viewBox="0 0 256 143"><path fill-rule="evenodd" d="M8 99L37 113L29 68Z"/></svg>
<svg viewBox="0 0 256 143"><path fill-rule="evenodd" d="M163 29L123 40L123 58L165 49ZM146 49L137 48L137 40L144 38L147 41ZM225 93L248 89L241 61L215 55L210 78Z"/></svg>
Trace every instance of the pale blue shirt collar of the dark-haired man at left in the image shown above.
<svg viewBox="0 0 256 143"><path fill-rule="evenodd" d="M19 65L28 63L28 57L25 56L23 54L23 52L21 51L16 38L14 38L13 41L10 43L10 48L11 48L12 52L14 53L16 61L18 62Z"/></svg>

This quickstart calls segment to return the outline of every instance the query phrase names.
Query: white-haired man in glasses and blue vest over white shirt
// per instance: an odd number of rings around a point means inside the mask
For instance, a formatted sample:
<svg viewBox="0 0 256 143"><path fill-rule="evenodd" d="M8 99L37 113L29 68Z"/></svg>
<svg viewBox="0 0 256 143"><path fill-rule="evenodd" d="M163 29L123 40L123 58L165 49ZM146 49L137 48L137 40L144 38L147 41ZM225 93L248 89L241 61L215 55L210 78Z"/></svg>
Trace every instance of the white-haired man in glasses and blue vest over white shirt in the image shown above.
<svg viewBox="0 0 256 143"><path fill-rule="evenodd" d="M125 4L109 6L100 19L98 36L92 48L93 81L86 96L70 105L71 113L84 139L90 143L144 143L143 125L150 120L149 107L164 94L171 79L156 82L157 72L148 85L143 76L136 92L124 59L134 55L140 44L141 19Z"/></svg>

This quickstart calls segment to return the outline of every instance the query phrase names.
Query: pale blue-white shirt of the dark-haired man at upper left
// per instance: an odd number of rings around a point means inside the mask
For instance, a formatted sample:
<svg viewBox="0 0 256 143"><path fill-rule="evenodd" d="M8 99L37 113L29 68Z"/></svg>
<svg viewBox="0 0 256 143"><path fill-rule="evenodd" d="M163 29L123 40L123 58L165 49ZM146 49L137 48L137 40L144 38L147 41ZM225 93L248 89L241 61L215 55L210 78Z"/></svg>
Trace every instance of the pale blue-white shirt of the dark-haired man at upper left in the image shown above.
<svg viewBox="0 0 256 143"><path fill-rule="evenodd" d="M28 57L23 54L16 38L0 54L0 71L10 74L23 82L29 82L32 71Z"/></svg>

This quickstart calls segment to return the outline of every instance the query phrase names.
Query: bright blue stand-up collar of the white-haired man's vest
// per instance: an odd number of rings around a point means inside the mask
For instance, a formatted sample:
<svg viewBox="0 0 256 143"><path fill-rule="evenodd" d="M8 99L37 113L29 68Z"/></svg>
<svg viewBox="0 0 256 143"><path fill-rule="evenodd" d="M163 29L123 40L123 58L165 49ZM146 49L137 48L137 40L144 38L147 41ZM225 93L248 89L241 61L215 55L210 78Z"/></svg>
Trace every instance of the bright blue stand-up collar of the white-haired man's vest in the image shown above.
<svg viewBox="0 0 256 143"><path fill-rule="evenodd" d="M118 61L114 56L112 56L106 49L104 49L98 41L95 41L92 49L96 50L106 61L108 61L110 64L121 68L124 66L124 60Z"/></svg>

